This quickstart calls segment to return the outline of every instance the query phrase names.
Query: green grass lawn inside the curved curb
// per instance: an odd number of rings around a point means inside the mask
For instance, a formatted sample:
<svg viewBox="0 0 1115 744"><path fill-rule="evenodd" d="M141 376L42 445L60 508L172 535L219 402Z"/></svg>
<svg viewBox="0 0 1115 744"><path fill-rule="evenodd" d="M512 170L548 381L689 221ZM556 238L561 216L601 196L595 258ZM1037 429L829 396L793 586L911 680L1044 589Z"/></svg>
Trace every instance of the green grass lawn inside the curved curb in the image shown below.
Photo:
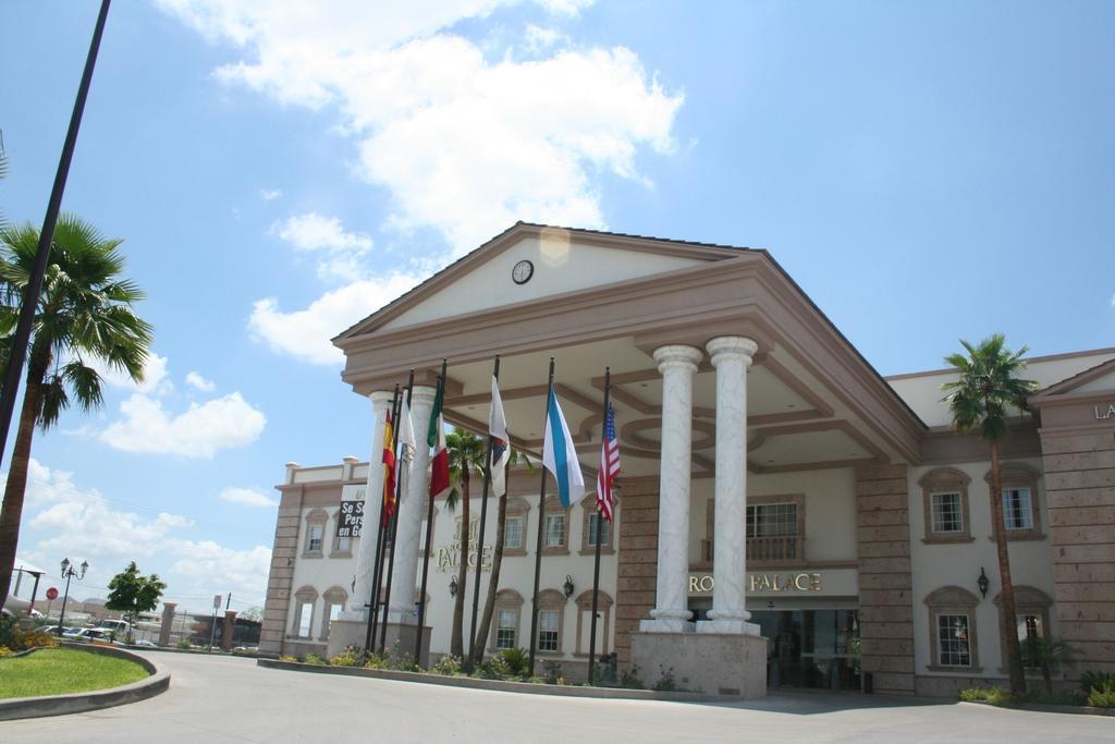
<svg viewBox="0 0 1115 744"><path fill-rule="evenodd" d="M0 658L0 698L84 693L139 682L147 670L134 661L69 648Z"/></svg>

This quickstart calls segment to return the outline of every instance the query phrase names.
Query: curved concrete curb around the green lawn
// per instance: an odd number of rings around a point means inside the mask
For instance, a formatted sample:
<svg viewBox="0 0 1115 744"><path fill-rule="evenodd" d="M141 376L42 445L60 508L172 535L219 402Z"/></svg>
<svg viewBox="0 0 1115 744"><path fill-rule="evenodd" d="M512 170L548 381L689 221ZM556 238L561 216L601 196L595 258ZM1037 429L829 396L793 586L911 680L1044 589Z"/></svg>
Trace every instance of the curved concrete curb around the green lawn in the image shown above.
<svg viewBox="0 0 1115 744"><path fill-rule="evenodd" d="M95 689L87 693L70 693L68 695L50 695L46 697L12 697L0 700L0 721L16 721L18 718L38 718L45 716L61 716L70 713L84 713L86 711L99 711L110 708L116 705L127 703L138 703L148 697L154 697L165 693L171 686L171 673L161 671L154 664L142 656L136 656L122 648L113 646L89 646L86 644L62 644L64 648L70 648L101 656L115 656L116 658L135 661L151 676L139 682L122 687L109 689ZM32 649L42 650L42 649Z"/></svg>

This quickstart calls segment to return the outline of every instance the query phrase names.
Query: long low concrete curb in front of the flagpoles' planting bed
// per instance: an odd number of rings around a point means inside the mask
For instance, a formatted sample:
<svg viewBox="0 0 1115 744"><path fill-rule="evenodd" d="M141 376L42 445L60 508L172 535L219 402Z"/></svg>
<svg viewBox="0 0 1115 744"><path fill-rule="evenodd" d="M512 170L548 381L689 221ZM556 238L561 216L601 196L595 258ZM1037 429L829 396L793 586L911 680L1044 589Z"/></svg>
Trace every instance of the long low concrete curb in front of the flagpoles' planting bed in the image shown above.
<svg viewBox="0 0 1115 744"><path fill-rule="evenodd" d="M473 677L449 677L418 671L397 671L394 669L365 669L362 667L334 667L319 664L301 664L299 661L279 661L275 659L258 659L256 665L269 669L287 669L290 671L309 671L311 674L338 674L350 677L372 677L395 682L410 682L420 685L442 685L444 687L465 687L468 689L491 689L502 693L521 693L524 695L551 695L554 697L590 697L610 700L669 700L673 703L740 703L743 698L734 695L708 695L705 693L660 693L653 689L627 689L624 687L579 687L575 685L536 685L529 682L506 682L503 679L475 679Z"/></svg>

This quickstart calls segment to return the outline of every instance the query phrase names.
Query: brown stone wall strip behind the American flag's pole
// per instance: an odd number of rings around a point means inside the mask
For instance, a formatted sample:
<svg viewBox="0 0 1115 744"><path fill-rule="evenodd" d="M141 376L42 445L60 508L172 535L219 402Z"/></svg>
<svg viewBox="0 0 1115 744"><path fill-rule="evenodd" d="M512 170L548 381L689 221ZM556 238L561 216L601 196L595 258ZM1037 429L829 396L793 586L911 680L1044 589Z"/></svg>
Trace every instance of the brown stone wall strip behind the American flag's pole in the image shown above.
<svg viewBox="0 0 1115 744"><path fill-rule="evenodd" d="M657 484L656 484L657 485ZM655 493L647 493L648 490ZM623 484L619 510L619 576L615 580L615 653L631 661L631 634L655 607L658 576L658 493L656 486Z"/></svg>

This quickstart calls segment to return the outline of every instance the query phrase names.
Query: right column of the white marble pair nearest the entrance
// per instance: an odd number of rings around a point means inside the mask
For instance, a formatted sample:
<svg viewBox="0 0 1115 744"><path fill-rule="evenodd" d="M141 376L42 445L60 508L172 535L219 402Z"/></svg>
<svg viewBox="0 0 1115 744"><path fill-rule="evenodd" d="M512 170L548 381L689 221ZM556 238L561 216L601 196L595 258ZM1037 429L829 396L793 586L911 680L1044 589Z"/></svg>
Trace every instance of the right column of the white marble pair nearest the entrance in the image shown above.
<svg viewBox="0 0 1115 744"><path fill-rule="evenodd" d="M758 635L747 620L747 368L758 345L720 336L706 346L716 367L716 512L712 609L698 632Z"/></svg>

